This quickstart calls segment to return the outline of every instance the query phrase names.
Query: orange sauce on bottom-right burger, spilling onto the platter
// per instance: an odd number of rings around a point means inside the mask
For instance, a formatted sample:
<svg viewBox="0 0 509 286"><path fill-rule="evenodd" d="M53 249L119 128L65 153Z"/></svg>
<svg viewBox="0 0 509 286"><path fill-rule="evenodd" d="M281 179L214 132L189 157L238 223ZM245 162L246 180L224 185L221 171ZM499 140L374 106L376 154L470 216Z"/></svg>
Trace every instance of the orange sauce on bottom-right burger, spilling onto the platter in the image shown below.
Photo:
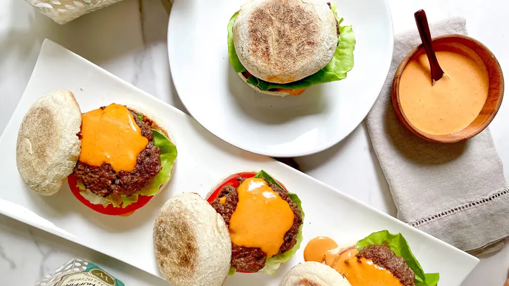
<svg viewBox="0 0 509 286"><path fill-rule="evenodd" d="M345 275L352 286L402 286L400 280L388 270L371 260L357 259L357 253L359 251L354 246L340 248L330 238L317 237L304 248L304 261L325 262Z"/></svg>

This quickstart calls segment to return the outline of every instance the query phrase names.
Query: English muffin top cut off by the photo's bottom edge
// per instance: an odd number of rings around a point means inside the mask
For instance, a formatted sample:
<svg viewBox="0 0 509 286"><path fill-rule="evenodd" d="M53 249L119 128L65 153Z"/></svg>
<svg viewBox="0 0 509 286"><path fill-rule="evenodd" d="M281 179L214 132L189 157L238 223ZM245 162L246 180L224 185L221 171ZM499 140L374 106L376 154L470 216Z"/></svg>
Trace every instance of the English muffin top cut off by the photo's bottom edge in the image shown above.
<svg viewBox="0 0 509 286"><path fill-rule="evenodd" d="M331 267L318 262L294 266L283 277L281 286L351 286L347 278Z"/></svg>

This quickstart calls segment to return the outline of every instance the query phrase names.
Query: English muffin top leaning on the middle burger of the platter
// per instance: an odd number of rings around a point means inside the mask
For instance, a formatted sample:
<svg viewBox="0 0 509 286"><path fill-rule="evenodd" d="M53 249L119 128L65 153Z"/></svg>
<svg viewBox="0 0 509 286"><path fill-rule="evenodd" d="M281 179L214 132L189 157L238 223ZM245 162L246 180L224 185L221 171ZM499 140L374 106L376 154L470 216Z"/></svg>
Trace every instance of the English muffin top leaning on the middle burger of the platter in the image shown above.
<svg viewBox="0 0 509 286"><path fill-rule="evenodd" d="M230 270L228 227L197 194L179 194L164 204L154 223L154 250L173 286L220 286Z"/></svg>

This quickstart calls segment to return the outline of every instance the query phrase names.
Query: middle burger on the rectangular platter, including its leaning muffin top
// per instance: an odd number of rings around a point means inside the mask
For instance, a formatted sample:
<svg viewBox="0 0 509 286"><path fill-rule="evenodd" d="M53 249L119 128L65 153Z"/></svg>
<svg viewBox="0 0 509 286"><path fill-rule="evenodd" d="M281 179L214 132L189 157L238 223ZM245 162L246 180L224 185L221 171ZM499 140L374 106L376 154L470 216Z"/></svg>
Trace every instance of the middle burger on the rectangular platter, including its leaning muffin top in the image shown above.
<svg viewBox="0 0 509 286"><path fill-rule="evenodd" d="M220 286L235 271L273 274L302 242L300 204L263 170L228 177L207 200L172 196L154 223L159 269L175 286Z"/></svg>

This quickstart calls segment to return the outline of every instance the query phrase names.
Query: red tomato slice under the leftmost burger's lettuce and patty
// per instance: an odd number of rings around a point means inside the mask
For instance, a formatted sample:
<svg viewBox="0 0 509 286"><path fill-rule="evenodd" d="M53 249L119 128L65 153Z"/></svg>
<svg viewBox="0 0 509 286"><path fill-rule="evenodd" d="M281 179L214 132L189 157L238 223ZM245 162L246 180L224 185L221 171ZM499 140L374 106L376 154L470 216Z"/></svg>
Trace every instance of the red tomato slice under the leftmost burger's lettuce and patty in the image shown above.
<svg viewBox="0 0 509 286"><path fill-rule="evenodd" d="M132 213L134 213L135 210L145 206L150 199L152 199L154 196L147 196L147 195L138 195L138 201L136 203L133 203L125 208L122 208L122 205L120 207L114 207L113 205L109 204L106 207L103 205L95 205L88 201L88 199L84 198L81 195L81 190L77 187L77 179L76 176L70 175L67 177L67 182L69 183L69 187L71 188L72 194L80 201L83 205L93 209L96 212L106 214L106 215L118 215L118 216L129 216Z"/></svg>

